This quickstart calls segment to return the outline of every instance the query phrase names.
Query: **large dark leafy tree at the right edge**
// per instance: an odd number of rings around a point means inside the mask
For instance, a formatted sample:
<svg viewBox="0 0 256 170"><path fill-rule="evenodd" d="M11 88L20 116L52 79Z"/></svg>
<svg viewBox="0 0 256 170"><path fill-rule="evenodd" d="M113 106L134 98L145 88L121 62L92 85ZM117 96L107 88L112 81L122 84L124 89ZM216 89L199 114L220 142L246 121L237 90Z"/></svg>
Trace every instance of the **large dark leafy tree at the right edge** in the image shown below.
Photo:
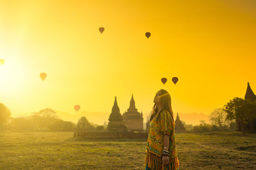
<svg viewBox="0 0 256 170"><path fill-rule="evenodd" d="M234 97L234 99L223 106L223 110L227 112L228 120L236 119L241 125L243 134L245 134L244 125L255 118L256 103L240 97Z"/></svg>

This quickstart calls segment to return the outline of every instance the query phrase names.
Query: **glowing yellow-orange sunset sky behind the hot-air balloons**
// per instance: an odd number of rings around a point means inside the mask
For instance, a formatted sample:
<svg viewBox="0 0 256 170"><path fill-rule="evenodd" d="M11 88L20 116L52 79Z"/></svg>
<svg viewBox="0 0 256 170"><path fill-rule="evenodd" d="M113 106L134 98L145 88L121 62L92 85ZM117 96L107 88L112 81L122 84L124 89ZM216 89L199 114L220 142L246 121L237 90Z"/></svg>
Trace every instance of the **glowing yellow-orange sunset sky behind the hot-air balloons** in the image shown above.
<svg viewBox="0 0 256 170"><path fill-rule="evenodd" d="M247 81L256 92L255 8L253 0L0 1L0 102L12 115L76 114L75 104L109 114L116 96L123 113L133 92L147 115L166 89L175 115L209 115L244 97Z"/></svg>

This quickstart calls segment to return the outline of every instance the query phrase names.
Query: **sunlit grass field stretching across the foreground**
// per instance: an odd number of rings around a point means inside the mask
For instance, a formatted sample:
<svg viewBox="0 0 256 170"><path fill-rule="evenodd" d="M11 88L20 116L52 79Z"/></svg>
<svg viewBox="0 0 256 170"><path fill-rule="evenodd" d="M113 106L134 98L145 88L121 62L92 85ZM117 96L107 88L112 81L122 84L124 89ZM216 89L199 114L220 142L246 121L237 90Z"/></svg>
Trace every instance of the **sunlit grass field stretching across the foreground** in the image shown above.
<svg viewBox="0 0 256 170"><path fill-rule="evenodd" d="M256 169L256 134L176 134L180 169ZM0 169L145 169L146 141L0 132Z"/></svg>

